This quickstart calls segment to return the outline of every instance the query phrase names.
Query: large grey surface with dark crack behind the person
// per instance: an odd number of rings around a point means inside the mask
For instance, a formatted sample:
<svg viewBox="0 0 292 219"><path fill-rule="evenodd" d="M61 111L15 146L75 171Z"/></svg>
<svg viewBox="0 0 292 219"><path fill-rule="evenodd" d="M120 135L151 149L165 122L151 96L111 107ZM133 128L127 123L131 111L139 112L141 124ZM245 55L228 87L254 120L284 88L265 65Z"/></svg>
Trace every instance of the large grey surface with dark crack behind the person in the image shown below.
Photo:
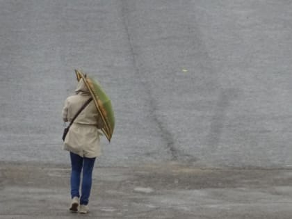
<svg viewBox="0 0 292 219"><path fill-rule="evenodd" d="M292 165L292 2L0 0L0 161L68 163L74 68L116 127L98 165Z"/></svg>

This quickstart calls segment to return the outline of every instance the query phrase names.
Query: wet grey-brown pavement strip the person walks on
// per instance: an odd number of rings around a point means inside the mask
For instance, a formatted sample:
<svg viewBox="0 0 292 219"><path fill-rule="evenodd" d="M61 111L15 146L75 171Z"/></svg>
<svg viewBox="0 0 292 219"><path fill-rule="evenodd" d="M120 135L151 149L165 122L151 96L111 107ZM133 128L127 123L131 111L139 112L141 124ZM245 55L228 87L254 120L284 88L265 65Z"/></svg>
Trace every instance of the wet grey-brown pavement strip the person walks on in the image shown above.
<svg viewBox="0 0 292 219"><path fill-rule="evenodd" d="M96 167L90 213L70 213L70 167L1 163L0 218L287 218L292 170L179 163Z"/></svg>

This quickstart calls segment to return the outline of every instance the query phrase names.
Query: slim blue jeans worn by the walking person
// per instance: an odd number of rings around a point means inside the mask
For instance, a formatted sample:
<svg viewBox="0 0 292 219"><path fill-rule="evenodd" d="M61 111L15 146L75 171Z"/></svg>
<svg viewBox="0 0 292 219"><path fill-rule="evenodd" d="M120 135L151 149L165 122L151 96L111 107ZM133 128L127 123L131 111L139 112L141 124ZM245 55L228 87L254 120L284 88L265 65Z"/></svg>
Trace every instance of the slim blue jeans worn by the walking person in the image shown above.
<svg viewBox="0 0 292 219"><path fill-rule="evenodd" d="M88 159L70 152L71 158L71 197L80 197L79 187L82 171L82 185L80 204L88 204L92 185L92 170L95 165L95 158Z"/></svg>

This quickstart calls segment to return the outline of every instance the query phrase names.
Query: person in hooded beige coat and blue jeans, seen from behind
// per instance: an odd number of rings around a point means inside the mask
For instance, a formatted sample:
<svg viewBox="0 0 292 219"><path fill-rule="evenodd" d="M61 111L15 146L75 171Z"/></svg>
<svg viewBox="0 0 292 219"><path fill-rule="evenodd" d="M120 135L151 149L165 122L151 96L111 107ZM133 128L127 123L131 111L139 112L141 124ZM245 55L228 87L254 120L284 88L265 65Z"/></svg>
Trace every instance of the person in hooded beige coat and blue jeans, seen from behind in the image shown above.
<svg viewBox="0 0 292 219"><path fill-rule="evenodd" d="M63 108L64 122L70 122L77 111L90 99L90 92L81 79L75 90L75 95L67 97ZM92 170L95 159L101 154L99 136L102 128L101 117L91 101L76 117L64 140L64 149L70 152L71 159L71 206L70 211L88 213L88 202L92 186ZM82 184L81 195L79 186ZM80 199L80 200L79 200ZM80 205L79 205L80 204Z"/></svg>

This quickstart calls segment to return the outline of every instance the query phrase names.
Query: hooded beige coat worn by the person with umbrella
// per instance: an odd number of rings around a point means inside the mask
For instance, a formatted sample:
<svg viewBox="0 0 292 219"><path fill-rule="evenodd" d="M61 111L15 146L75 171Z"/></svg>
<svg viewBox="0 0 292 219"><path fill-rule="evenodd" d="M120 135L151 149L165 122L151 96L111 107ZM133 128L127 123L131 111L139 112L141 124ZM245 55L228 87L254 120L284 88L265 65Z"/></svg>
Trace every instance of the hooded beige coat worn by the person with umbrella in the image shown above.
<svg viewBox="0 0 292 219"><path fill-rule="evenodd" d="M88 88L81 79L75 90L76 95L67 97L63 108L63 120L70 122L79 109L90 98ZM93 101L83 109L76 117L74 123L70 127L64 141L64 149L79 156L94 158L101 154L101 146L99 136L102 131L100 127L101 117L97 113L97 108Z"/></svg>

